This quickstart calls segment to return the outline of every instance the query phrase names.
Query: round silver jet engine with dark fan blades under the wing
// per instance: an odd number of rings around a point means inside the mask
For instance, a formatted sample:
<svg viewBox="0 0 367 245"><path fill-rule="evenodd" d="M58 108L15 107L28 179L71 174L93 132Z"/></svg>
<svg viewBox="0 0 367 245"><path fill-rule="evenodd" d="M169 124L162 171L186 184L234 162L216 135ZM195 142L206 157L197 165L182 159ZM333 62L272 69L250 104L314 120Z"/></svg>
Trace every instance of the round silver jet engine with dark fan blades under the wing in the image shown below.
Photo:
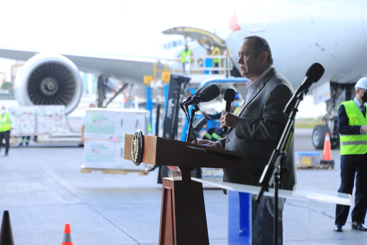
<svg viewBox="0 0 367 245"><path fill-rule="evenodd" d="M38 54L30 58L15 77L15 97L21 106L65 105L75 109L82 92L76 65L59 54Z"/></svg>

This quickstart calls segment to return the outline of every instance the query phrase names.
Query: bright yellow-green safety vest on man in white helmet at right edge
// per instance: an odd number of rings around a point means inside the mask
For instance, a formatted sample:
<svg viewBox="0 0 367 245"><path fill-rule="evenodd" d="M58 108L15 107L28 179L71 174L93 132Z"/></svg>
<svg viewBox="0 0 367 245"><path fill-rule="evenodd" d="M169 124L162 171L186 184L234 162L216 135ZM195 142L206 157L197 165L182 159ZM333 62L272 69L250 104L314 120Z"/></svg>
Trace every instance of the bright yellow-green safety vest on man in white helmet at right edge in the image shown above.
<svg viewBox="0 0 367 245"><path fill-rule="evenodd" d="M340 105L344 105L345 107L350 126L367 124L367 119L364 118L362 112L353 100L344 101ZM367 153L366 132L355 135L340 135L340 155L363 155L365 153Z"/></svg>

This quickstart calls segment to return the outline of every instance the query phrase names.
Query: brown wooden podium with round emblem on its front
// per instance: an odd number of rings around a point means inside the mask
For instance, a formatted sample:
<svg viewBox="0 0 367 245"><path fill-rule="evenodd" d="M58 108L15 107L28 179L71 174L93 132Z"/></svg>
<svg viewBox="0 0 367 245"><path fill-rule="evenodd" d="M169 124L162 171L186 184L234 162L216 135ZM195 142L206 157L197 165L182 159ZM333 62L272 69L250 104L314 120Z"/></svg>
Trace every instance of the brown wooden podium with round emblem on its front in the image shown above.
<svg viewBox="0 0 367 245"><path fill-rule="evenodd" d="M125 135L124 159L132 159L133 137ZM196 167L248 169L245 155L157 136L141 137L141 162L173 170L173 178L163 179L159 244L209 244L203 184L191 180L190 172Z"/></svg>

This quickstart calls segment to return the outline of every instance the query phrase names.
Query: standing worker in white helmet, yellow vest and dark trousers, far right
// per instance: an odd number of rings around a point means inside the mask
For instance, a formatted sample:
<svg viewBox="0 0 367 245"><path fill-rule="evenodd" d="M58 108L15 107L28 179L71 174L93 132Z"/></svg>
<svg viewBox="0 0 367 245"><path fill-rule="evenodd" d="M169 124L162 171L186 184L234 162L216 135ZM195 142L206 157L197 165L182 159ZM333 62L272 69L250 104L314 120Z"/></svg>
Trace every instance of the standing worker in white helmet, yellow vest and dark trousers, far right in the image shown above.
<svg viewBox="0 0 367 245"><path fill-rule="evenodd" d="M356 176L355 206L352 229L367 231L364 217L367 210L367 77L357 81L356 97L342 102L338 109L340 133L340 177L338 192L352 195ZM349 206L337 204L334 231L342 231L348 218Z"/></svg>

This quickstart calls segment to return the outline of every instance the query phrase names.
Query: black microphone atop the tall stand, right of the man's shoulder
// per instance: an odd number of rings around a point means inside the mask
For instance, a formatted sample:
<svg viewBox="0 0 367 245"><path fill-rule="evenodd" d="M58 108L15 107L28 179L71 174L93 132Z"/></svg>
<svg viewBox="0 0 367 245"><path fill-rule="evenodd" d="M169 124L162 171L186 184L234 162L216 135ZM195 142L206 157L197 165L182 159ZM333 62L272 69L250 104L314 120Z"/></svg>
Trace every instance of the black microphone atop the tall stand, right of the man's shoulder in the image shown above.
<svg viewBox="0 0 367 245"><path fill-rule="evenodd" d="M324 71L325 71L324 67L322 65L320 65L319 63L313 63L310 66L310 68L308 68L308 70L306 72L306 78L305 78L305 80L299 86L299 88L294 93L294 95L292 96L292 98L288 101L288 103L286 105L286 108L283 110L283 112L287 116L291 113L292 108L294 107L294 104L297 101L297 97L298 97L299 92L306 91L305 92L305 94L306 94L308 92L308 89L310 88L310 86L314 82L319 81L319 79L324 74Z"/></svg>

